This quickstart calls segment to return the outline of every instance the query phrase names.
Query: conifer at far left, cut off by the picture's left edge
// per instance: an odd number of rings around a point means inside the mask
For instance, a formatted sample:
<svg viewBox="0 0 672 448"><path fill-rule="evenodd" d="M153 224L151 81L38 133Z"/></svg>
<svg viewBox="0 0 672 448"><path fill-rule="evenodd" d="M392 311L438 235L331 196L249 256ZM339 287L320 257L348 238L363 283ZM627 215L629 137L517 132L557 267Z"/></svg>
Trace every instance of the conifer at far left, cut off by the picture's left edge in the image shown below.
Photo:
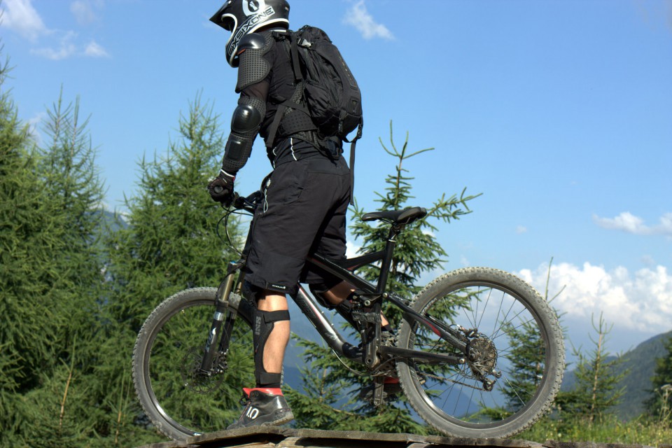
<svg viewBox="0 0 672 448"><path fill-rule="evenodd" d="M63 316L57 310L54 264L62 226L43 188L29 128L18 119L0 66L0 446L20 444L29 424L23 395L41 386L58 364L52 344Z"/></svg>

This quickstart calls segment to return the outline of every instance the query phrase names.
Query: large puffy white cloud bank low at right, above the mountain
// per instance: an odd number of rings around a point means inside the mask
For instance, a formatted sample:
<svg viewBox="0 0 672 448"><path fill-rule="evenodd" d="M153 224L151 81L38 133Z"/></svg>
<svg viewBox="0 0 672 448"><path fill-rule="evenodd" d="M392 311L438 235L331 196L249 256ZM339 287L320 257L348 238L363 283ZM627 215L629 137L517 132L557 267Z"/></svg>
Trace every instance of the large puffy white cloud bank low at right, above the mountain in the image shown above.
<svg viewBox="0 0 672 448"><path fill-rule="evenodd" d="M543 290L547 269L547 265L540 265L534 271L524 269L518 274ZM569 263L552 265L549 295L563 287L553 306L569 318L589 322L591 315L602 312L606 321L622 330L655 334L672 328L672 274L666 267L630 273L624 267L608 271L588 262L582 267Z"/></svg>

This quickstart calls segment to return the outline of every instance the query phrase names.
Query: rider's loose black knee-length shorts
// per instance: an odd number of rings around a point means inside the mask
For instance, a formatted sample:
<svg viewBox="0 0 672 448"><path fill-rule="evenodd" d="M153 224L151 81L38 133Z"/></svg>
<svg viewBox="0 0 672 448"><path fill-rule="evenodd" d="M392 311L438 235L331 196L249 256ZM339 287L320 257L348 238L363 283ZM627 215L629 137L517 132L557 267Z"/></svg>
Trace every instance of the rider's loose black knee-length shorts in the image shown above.
<svg viewBox="0 0 672 448"><path fill-rule="evenodd" d="M264 190L262 190L264 193ZM246 280L294 295L302 283L333 283L306 265L309 253L345 258L350 170L343 158L314 155L274 169L248 239Z"/></svg>

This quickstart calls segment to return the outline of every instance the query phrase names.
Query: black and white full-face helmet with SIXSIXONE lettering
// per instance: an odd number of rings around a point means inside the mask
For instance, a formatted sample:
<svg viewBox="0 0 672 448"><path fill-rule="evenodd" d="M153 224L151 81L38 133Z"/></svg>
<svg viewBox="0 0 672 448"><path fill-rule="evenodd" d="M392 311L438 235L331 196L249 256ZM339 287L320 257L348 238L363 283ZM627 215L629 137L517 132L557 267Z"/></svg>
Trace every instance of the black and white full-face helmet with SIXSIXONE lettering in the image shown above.
<svg viewBox="0 0 672 448"><path fill-rule="evenodd" d="M238 45L246 34L275 24L289 28L289 3L286 0L229 0L210 18L223 29L231 31L226 43L226 60L238 66Z"/></svg>

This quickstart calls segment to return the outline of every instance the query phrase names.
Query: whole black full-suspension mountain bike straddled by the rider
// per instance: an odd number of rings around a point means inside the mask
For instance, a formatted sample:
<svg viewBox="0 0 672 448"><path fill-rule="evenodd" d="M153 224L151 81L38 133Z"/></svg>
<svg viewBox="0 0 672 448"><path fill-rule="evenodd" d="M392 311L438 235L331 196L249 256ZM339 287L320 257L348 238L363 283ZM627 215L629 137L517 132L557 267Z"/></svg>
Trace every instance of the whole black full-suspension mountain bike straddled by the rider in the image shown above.
<svg viewBox="0 0 672 448"><path fill-rule="evenodd" d="M234 211L253 213L261 193L237 196ZM552 405L564 370L555 312L517 276L466 267L439 276L412 300L387 290L395 242L406 225L426 216L412 207L364 214L389 226L384 250L346 260L318 254L307 262L356 288L349 343L302 285L292 298L339 358L369 374L372 402L385 402L384 379L398 377L404 403L437 430L456 437L509 437ZM225 221L227 223L228 221ZM356 274L380 267L377 283ZM244 258L228 265L218 288L193 288L167 298L148 316L133 353L133 379L146 416L175 440L213 432L241 412L241 388L253 386L253 304L241 297ZM381 307L402 320L381 338ZM358 339L359 339L358 338ZM400 400L404 400L400 397Z"/></svg>

